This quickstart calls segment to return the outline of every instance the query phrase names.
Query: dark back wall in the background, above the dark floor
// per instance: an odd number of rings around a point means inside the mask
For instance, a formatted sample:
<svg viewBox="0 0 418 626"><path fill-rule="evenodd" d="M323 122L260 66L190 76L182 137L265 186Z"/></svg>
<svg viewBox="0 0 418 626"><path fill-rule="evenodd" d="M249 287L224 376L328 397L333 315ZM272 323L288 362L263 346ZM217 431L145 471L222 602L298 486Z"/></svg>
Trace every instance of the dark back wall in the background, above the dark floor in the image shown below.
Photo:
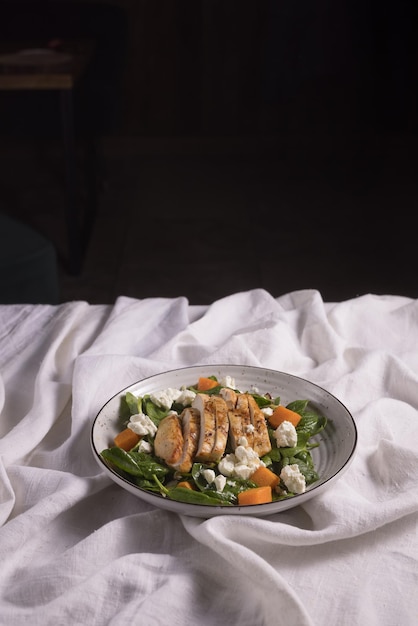
<svg viewBox="0 0 418 626"><path fill-rule="evenodd" d="M117 102L107 131L416 130L413 2L2 0L0 7L2 40L95 38L90 78L99 93L89 92L90 121Z"/></svg>

